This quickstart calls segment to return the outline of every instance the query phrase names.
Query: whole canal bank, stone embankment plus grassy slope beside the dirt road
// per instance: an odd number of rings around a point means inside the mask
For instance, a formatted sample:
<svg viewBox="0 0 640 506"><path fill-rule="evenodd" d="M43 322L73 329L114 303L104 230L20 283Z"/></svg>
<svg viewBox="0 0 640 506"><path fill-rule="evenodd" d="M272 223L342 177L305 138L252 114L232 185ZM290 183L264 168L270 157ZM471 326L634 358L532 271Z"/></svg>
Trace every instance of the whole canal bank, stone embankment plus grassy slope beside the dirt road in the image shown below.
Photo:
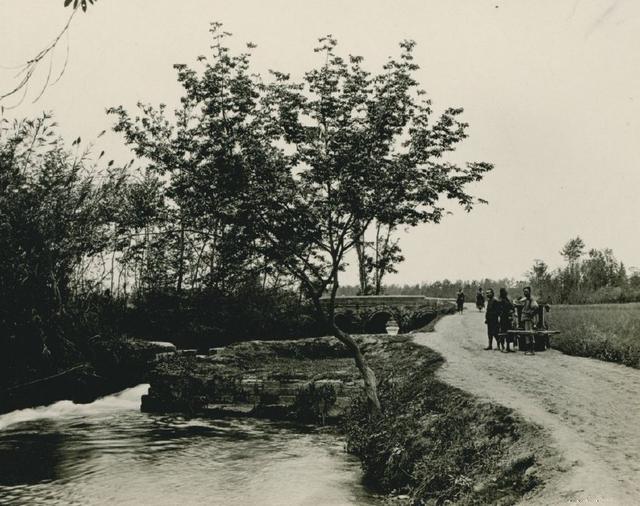
<svg viewBox="0 0 640 506"><path fill-rule="evenodd" d="M143 409L334 423L367 486L396 504L513 504L544 484L542 431L435 377L412 335L356 336L379 380L371 417L347 350L333 338L254 341L157 364Z"/></svg>

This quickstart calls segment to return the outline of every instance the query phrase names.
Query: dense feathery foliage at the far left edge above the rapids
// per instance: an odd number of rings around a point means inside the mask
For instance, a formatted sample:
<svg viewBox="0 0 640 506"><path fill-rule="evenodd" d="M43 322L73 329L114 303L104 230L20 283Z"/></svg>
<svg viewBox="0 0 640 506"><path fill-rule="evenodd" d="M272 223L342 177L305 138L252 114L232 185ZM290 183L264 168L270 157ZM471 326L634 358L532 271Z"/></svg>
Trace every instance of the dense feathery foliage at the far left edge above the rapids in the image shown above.
<svg viewBox="0 0 640 506"><path fill-rule="evenodd" d="M75 269L109 244L116 176L97 181L84 157L49 140L54 125L43 115L0 134L0 322L64 311Z"/></svg>

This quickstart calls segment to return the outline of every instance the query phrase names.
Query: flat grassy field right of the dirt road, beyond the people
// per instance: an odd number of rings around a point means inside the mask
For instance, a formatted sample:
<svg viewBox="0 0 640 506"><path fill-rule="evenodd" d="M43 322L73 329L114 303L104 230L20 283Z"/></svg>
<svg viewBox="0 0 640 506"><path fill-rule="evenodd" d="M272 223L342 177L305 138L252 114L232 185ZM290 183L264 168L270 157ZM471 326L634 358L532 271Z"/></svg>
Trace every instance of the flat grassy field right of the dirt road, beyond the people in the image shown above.
<svg viewBox="0 0 640 506"><path fill-rule="evenodd" d="M640 303L552 306L549 320L554 348L640 369Z"/></svg>

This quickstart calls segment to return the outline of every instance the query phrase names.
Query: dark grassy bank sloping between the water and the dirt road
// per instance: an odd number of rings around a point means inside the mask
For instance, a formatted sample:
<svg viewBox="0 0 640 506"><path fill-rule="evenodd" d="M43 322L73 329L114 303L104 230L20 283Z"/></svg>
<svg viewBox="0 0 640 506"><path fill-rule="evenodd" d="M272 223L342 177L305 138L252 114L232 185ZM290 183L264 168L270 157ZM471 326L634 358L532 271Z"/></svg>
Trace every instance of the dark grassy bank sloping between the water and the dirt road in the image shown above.
<svg viewBox="0 0 640 506"><path fill-rule="evenodd" d="M380 418L354 399L343 429L365 479L407 504L512 504L544 481L540 430L434 377L442 358L413 344L372 359Z"/></svg>

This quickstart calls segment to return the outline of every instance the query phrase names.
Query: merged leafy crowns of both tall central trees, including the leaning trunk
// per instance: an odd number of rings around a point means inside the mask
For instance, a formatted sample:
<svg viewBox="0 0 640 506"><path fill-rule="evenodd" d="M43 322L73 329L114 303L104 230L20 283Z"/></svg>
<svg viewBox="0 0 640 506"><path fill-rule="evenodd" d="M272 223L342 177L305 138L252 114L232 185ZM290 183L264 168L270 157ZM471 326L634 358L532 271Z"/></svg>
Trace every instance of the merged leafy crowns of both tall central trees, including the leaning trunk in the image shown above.
<svg viewBox="0 0 640 506"><path fill-rule="evenodd" d="M243 272L299 282L321 321L354 352L379 408L372 371L334 323L345 255L374 224L437 223L447 199L470 211L477 200L467 186L492 167L448 159L468 125L460 108L433 119L415 78L412 41L371 73L362 57L340 56L329 35L301 81L278 71L266 81L251 71L253 44L236 55L221 24L211 32L201 69L175 66L184 93L173 118L164 106L140 104L136 116L109 110L164 187L169 219L161 232L175 238L176 287L189 258L208 257L214 266L221 255ZM397 244L387 247L398 260Z"/></svg>

